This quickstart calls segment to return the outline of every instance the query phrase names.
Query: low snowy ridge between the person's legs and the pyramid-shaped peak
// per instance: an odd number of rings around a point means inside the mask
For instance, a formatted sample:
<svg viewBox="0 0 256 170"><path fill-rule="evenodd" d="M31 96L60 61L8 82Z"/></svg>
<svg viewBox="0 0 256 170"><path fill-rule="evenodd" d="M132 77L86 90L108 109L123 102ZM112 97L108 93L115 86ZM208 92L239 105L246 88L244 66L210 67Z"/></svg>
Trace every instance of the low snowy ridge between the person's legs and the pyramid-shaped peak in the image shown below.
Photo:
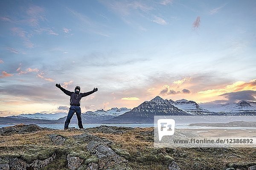
<svg viewBox="0 0 256 170"><path fill-rule="evenodd" d="M107 119L112 119L113 117L119 116L125 112L131 111L131 109L128 108L111 108L108 111L97 110L97 111L87 111L85 113L82 113L82 122L83 123L99 123L100 121L104 121ZM67 116L64 118L59 119L59 121L65 122ZM72 117L70 123L77 123L77 117L76 113Z"/></svg>

